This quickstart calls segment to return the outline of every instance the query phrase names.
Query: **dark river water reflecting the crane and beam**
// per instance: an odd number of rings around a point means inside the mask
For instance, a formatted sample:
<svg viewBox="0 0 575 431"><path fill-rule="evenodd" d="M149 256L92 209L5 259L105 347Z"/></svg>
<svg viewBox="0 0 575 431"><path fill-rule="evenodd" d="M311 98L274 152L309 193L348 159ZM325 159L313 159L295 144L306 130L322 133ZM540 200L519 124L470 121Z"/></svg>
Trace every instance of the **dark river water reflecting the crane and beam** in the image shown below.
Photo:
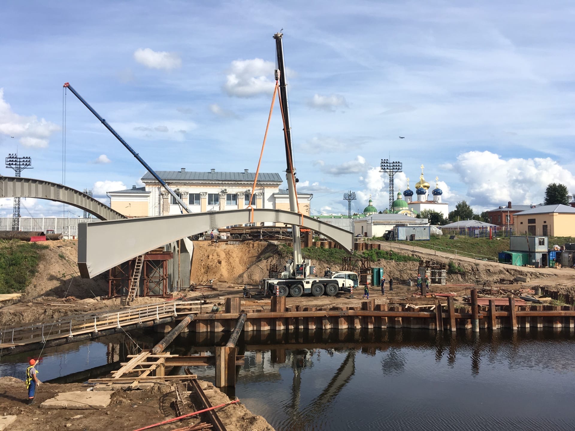
<svg viewBox="0 0 575 431"><path fill-rule="evenodd" d="M210 352L228 336L182 334L170 351ZM150 348L160 338L152 332L114 337L45 349L40 378L104 375L136 344ZM569 330L267 333L240 337L238 347L244 365L229 392L278 431L575 429L575 333ZM22 378L26 359L38 353L2 357L0 374ZM60 378L70 372L76 374ZM194 372L213 382L213 367Z"/></svg>

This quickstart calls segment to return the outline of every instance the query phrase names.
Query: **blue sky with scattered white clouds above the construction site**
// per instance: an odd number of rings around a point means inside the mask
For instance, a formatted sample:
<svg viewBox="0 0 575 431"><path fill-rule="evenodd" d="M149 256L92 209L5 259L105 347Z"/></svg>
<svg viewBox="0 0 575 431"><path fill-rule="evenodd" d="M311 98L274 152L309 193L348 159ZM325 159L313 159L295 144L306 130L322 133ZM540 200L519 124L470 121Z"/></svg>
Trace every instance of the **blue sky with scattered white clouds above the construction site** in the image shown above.
<svg viewBox="0 0 575 431"><path fill-rule="evenodd" d="M0 20L0 155L103 202L145 170L65 82L155 170L255 171L281 29L312 215L347 213L345 191L354 211L370 196L384 210L388 158L403 164L395 193L423 164L450 210L540 203L551 182L575 192L570 1L7 1ZM261 171L285 165L276 103ZM22 203L22 216L82 214Z"/></svg>

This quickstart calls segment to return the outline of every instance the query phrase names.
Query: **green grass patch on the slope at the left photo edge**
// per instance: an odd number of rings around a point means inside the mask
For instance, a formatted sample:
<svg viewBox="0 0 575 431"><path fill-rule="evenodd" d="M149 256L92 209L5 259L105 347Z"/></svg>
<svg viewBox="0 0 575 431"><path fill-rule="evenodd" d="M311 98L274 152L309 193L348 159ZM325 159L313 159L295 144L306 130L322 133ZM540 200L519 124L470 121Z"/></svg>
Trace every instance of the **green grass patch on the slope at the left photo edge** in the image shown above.
<svg viewBox="0 0 575 431"><path fill-rule="evenodd" d="M40 250L46 248L20 240L0 241L0 294L23 291L36 274Z"/></svg>

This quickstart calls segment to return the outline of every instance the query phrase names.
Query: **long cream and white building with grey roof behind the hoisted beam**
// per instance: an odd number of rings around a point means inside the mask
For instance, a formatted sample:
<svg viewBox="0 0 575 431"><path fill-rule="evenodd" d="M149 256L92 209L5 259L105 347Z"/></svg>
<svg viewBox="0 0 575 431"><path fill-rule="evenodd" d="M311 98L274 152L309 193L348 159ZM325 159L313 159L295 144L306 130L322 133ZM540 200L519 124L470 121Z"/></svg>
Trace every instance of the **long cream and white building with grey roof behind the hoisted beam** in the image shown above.
<svg viewBox="0 0 575 431"><path fill-rule="evenodd" d="M250 205L255 173L243 172L158 171L168 186L193 213L244 209ZM127 217L163 216L182 212L175 199L147 172L144 187L109 191L110 207ZM283 180L277 173L260 172L251 199L252 207L289 210L287 190L279 188ZM313 195L298 193L300 211L309 216Z"/></svg>

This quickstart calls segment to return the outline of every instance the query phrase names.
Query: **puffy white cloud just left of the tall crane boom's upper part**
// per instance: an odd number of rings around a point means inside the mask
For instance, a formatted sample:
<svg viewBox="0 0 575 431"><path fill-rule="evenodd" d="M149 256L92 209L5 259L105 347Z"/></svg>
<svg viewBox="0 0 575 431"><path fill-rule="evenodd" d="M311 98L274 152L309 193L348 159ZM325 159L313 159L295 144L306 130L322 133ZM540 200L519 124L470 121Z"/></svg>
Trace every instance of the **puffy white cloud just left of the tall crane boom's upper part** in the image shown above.
<svg viewBox="0 0 575 431"><path fill-rule="evenodd" d="M224 91L235 97L254 97L274 91L275 64L262 59L234 60L229 67Z"/></svg>

